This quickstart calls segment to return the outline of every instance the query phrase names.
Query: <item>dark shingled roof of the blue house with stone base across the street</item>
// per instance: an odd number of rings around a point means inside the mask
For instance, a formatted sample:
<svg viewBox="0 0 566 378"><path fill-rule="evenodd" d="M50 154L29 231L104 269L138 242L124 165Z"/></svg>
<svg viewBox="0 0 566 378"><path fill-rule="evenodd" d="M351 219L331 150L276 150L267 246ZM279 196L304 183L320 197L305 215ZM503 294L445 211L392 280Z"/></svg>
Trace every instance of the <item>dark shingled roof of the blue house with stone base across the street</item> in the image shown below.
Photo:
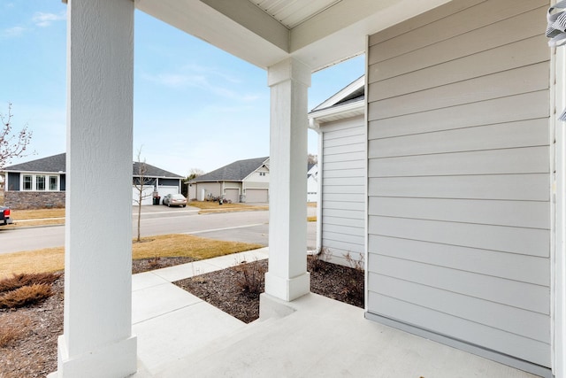
<svg viewBox="0 0 566 378"><path fill-rule="evenodd" d="M38 158L36 160L28 161L26 163L16 164L14 166L6 166L4 171L10 172L65 172L65 153L60 153L58 155L53 155L47 158ZM132 174L134 176L139 175L139 163L134 162L132 169ZM179 174L172 174L171 172L165 171L157 166L151 166L145 164L147 171L146 176L148 177L167 177L174 179L181 179L182 176Z"/></svg>

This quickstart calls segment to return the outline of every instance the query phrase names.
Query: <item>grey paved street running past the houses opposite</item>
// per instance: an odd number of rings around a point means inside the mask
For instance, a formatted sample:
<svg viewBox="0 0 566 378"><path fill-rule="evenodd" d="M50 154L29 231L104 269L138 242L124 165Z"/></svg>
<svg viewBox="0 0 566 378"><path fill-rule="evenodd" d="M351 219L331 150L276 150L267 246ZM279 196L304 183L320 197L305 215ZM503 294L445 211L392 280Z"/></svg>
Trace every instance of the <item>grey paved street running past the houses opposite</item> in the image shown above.
<svg viewBox="0 0 566 378"><path fill-rule="evenodd" d="M316 208L308 208L309 215ZM133 208L133 235L137 234L137 208ZM193 234L212 239L247 243L269 243L269 212L225 212L198 215L195 208L142 207L142 236ZM316 247L316 222L308 225L308 247ZM0 253L33 251L65 245L65 226L0 228Z"/></svg>

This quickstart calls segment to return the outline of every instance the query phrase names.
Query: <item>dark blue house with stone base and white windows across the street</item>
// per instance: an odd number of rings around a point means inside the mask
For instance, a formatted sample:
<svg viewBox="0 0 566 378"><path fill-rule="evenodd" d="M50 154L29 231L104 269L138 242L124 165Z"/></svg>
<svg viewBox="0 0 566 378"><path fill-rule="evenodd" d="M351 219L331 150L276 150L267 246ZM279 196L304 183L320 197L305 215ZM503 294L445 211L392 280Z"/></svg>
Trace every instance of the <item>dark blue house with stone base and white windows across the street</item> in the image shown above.
<svg viewBox="0 0 566 378"><path fill-rule="evenodd" d="M139 186L142 177L142 163L132 166L132 204L139 200ZM142 204L152 204L153 194L164 197L180 193L182 176L172 174L157 166L143 163ZM6 166L2 171L5 177L4 204L13 209L42 209L65 207L67 189L66 154L60 153L47 158L38 158L25 163ZM110 183L110 186L112 184ZM98 190L100 184L91 188Z"/></svg>

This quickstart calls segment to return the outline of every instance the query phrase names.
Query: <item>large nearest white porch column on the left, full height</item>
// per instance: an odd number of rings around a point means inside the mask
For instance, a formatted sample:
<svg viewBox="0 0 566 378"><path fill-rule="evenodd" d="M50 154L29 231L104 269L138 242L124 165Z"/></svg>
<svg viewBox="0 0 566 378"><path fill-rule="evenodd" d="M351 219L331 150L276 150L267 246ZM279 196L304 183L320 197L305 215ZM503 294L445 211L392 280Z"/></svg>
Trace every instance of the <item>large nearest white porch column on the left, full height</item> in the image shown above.
<svg viewBox="0 0 566 378"><path fill-rule="evenodd" d="M69 0L65 328L59 377L136 371L132 336L134 2Z"/></svg>

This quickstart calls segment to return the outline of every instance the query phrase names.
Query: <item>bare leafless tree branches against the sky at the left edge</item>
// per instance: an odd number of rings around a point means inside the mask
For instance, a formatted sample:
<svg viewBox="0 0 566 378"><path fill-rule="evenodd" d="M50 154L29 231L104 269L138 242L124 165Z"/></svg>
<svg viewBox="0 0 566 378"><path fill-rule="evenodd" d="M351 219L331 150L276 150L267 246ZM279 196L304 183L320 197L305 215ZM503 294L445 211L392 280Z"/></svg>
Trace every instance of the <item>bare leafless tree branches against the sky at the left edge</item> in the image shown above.
<svg viewBox="0 0 566 378"><path fill-rule="evenodd" d="M10 163L12 158L27 156L27 145L32 139L32 132L27 129L27 125L22 127L19 132L13 132L12 116L11 103L8 103L8 113L0 113L0 120L2 121L0 128L0 169Z"/></svg>

